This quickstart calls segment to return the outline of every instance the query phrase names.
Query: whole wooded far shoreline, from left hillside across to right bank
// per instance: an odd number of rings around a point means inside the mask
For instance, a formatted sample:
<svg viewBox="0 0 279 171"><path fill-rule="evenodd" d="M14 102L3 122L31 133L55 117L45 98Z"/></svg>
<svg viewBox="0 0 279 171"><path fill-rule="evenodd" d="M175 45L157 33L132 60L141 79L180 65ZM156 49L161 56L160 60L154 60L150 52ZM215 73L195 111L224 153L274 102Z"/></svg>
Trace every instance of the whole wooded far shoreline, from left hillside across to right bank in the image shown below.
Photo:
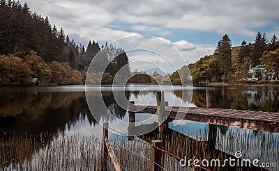
<svg viewBox="0 0 279 171"><path fill-rule="evenodd" d="M104 56L102 63L109 65L105 73L96 68L90 77L93 83L100 77L101 83L112 83L124 66L122 77L133 76L130 83L167 83L170 79L174 84L181 84L182 77L189 75L187 67L169 76L131 73L128 56L121 47L112 44L100 47L98 42L90 40L85 48L70 40L63 28L51 26L48 17L31 13L29 9L27 3L0 0L0 86L29 85L32 78L38 79L42 86L82 84L97 53ZM212 55L204 56L188 67L194 83L276 83L274 80L279 79L279 43L276 35L269 41L265 33L257 33L254 42L243 41L240 46L232 47L229 36L224 35Z"/></svg>

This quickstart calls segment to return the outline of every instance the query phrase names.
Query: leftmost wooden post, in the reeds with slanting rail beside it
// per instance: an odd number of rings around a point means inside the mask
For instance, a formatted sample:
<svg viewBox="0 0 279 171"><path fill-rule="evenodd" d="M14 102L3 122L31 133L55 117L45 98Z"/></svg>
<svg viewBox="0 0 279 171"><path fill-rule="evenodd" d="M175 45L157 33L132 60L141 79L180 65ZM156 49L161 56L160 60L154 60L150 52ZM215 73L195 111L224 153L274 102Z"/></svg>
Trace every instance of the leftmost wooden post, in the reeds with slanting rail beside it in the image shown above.
<svg viewBox="0 0 279 171"><path fill-rule="evenodd" d="M101 152L101 160L102 160L102 170L107 170L107 145L105 145L105 138L109 136L109 123L103 123L103 144L102 144L102 152Z"/></svg>

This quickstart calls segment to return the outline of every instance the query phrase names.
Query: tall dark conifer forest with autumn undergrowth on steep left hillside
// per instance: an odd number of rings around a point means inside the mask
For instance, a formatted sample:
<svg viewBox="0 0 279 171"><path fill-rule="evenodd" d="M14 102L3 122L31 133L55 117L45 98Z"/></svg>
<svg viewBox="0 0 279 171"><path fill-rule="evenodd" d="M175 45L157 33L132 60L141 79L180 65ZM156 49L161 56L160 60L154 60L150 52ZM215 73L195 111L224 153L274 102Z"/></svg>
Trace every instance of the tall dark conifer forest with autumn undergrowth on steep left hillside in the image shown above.
<svg viewBox="0 0 279 171"><path fill-rule="evenodd" d="M29 9L27 3L0 1L0 86L29 85L31 78L43 86L84 83L91 60L99 51L110 62L102 83L112 83L119 68L128 64L121 47L100 47L93 40L85 49L70 40L63 28L51 26L48 17Z"/></svg>

